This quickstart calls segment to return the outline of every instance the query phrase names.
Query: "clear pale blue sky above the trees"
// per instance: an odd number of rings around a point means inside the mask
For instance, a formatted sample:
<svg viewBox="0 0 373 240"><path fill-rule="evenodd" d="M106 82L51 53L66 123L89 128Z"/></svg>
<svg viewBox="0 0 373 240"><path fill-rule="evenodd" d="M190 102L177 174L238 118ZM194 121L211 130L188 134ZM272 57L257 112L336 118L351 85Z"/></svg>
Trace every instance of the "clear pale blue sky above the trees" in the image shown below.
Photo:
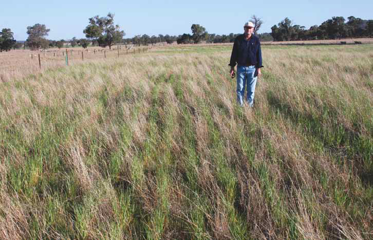
<svg viewBox="0 0 373 240"><path fill-rule="evenodd" d="M243 32L243 25L252 14L262 17L259 32L289 17L294 24L309 28L320 25L332 16L347 19L353 15L373 19L373 1L2 1L0 29L10 28L16 40L26 40L26 28L36 23L50 29L48 39L84 38L83 29L89 17L115 13L115 23L126 33L125 38L138 34L179 35L191 33L192 24L200 24L209 33ZM255 2L257 2L255 4Z"/></svg>

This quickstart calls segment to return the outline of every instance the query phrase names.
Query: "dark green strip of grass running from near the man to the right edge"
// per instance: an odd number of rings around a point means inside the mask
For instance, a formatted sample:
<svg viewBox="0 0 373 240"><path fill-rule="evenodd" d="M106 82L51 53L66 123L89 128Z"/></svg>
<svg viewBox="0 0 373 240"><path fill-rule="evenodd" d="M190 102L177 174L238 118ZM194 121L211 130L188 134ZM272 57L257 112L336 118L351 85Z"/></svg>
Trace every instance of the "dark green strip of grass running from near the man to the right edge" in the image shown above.
<svg viewBox="0 0 373 240"><path fill-rule="evenodd" d="M372 144L370 139L359 132L351 131L338 122L338 112L332 106L323 104L316 106L318 114L302 113L294 109L287 100L268 91L267 100L273 112L279 112L294 125L303 126L303 133L309 134L320 141L324 151L335 159L352 159L358 169L358 175L363 184L373 186L373 164L371 162ZM315 103L310 103L314 104ZM348 161L343 161L347 163Z"/></svg>

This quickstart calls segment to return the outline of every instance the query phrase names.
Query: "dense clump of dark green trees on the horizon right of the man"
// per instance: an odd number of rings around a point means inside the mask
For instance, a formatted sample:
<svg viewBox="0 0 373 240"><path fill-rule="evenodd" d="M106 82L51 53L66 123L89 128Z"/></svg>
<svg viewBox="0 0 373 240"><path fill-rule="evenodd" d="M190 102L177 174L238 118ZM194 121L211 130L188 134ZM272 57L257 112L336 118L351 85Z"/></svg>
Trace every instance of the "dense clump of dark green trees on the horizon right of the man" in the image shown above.
<svg viewBox="0 0 373 240"><path fill-rule="evenodd" d="M359 17L349 16L346 21L343 16L333 16L320 26L313 25L306 29L305 26L293 25L293 22L286 17L277 25L273 25L271 30L273 41L371 38L373 35L373 20L363 20Z"/></svg>

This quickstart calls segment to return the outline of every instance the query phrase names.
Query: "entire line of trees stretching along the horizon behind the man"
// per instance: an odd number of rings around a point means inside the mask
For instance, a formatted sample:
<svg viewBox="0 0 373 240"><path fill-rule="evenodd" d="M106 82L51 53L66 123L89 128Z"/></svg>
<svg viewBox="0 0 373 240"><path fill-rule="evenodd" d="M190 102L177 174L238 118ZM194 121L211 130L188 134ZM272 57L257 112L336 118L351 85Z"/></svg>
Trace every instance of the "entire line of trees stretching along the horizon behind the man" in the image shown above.
<svg viewBox="0 0 373 240"><path fill-rule="evenodd" d="M326 20L320 26L314 25L309 29L304 26L293 24L286 17L277 25L273 25L270 33L259 34L257 31L263 24L263 20L253 15L250 19L254 23L254 34L260 41L294 41L294 40L326 40L342 38L371 38L373 35L373 20L362 20L359 17L349 16L347 21L342 16L333 16ZM124 31L120 30L119 25L114 24L114 14L108 13L104 17L94 16L89 18L88 25L83 29L85 39L72 38L65 40L48 40L46 36L50 29L44 24L35 24L27 27L28 38L25 44L17 42L13 37L13 32L9 28L4 28L0 32L0 51L9 51L10 49L19 49L22 46L34 49L46 49L49 47L62 48L66 45L71 47L81 46L83 48L92 46L111 47L115 44L134 44L134 45L154 45L157 43L172 44L198 44L206 43L232 43L238 34L210 34L203 26L192 24L191 33L180 35L162 35L158 36L147 34L136 35L133 38L124 39Z"/></svg>

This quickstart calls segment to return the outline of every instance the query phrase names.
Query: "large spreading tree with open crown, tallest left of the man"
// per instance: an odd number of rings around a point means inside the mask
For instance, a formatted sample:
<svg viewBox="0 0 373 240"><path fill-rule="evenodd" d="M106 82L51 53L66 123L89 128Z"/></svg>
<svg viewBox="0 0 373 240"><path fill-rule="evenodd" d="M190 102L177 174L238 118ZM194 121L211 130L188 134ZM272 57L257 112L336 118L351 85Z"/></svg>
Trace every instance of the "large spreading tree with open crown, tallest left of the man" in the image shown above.
<svg viewBox="0 0 373 240"><path fill-rule="evenodd" d="M114 25L114 14L108 13L106 17L94 16L89 19L89 25L83 30L88 39L96 40L100 47L115 45L122 42L124 31Z"/></svg>

